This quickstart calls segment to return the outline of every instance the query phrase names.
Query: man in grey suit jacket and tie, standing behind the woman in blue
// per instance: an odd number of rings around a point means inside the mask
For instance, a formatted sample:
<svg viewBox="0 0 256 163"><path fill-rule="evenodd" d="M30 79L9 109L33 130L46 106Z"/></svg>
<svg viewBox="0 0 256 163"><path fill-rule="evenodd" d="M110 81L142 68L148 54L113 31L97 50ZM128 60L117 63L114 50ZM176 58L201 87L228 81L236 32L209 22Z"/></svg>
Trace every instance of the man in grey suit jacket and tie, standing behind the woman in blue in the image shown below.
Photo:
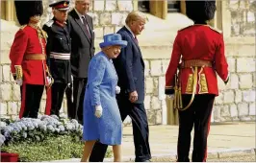
<svg viewBox="0 0 256 163"><path fill-rule="evenodd" d="M83 124L83 103L88 81L90 58L94 55L92 18L87 13L90 0L76 0L75 8L68 14L71 36L71 72L73 76L73 111L70 118Z"/></svg>

